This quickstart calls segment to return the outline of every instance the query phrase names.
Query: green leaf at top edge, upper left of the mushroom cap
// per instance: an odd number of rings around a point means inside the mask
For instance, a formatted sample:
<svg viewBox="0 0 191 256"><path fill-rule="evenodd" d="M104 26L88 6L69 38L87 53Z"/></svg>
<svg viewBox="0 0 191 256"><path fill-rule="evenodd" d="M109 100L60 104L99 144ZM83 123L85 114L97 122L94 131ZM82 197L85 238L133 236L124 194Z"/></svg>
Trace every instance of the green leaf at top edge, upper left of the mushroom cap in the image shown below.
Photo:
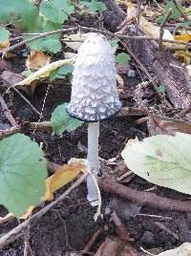
<svg viewBox="0 0 191 256"><path fill-rule="evenodd" d="M54 23L64 23L73 12L74 7L67 0L45 0L40 5L41 15Z"/></svg>

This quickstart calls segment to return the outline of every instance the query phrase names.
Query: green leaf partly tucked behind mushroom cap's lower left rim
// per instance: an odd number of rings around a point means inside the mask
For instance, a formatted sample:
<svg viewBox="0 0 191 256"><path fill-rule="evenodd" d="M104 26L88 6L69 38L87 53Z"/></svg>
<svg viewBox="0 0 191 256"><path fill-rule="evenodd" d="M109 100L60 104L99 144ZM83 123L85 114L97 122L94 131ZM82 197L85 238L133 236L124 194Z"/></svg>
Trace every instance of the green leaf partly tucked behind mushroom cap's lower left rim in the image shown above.
<svg viewBox="0 0 191 256"><path fill-rule="evenodd" d="M82 121L68 115L66 111L67 105L68 103L64 103L57 106L52 113L51 123L53 131L58 135L62 135L64 131L74 131L77 127L83 124Z"/></svg>

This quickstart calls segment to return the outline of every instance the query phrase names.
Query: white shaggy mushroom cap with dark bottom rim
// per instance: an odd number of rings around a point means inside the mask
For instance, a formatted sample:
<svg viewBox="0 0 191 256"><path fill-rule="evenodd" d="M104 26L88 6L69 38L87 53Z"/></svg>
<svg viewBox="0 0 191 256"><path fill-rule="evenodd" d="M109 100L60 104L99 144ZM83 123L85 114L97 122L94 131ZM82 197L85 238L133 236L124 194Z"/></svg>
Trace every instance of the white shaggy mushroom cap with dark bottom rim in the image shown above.
<svg viewBox="0 0 191 256"><path fill-rule="evenodd" d="M117 93L115 49L100 33L89 33L74 63L70 116L98 121L114 116L121 108Z"/></svg>

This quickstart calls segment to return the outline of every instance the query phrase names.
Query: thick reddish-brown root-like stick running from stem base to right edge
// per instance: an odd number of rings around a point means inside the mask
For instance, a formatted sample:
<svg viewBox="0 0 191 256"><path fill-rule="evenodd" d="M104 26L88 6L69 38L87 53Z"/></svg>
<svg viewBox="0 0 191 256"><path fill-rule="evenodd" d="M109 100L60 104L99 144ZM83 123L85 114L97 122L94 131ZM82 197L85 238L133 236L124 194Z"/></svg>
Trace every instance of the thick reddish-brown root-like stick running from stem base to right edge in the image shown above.
<svg viewBox="0 0 191 256"><path fill-rule="evenodd" d="M162 210L191 212L190 201L172 200L159 197L154 193L138 191L131 187L119 184L117 181L111 181L109 179L98 178L98 185L100 189L106 191L107 193L115 194L124 200L138 203L138 205L141 206L150 205L151 207Z"/></svg>

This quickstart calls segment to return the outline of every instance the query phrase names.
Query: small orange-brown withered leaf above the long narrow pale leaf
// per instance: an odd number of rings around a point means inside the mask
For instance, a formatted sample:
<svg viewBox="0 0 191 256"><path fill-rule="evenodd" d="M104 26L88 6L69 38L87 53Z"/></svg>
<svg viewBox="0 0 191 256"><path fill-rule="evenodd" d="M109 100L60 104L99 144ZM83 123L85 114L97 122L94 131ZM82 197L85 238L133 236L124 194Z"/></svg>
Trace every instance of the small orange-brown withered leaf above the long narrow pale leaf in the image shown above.
<svg viewBox="0 0 191 256"><path fill-rule="evenodd" d="M26 66L31 71L39 70L40 68L50 63L51 57L40 51L32 50L31 55L26 60Z"/></svg>

